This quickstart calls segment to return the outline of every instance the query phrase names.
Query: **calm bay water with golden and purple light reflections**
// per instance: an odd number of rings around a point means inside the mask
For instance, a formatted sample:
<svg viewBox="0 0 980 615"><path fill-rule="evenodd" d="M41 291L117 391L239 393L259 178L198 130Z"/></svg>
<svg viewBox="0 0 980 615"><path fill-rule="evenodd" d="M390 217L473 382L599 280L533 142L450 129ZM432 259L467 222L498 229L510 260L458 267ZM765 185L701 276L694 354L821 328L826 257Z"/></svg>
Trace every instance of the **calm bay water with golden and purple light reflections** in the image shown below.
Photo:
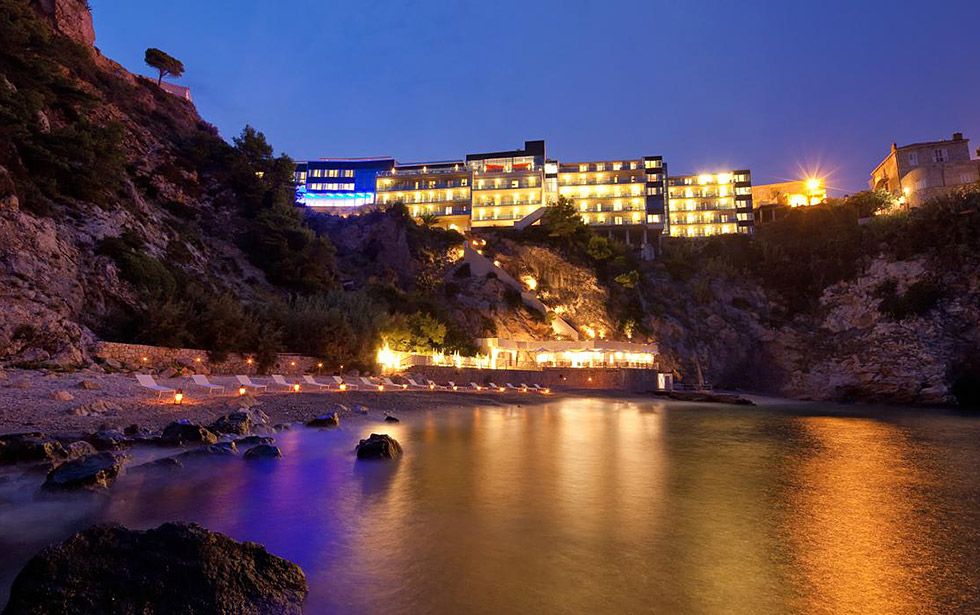
<svg viewBox="0 0 980 615"><path fill-rule="evenodd" d="M371 431L405 457L355 463ZM311 613L980 612L980 418L564 399L277 440L110 498L0 483L0 604L80 527L183 519L299 563Z"/></svg>

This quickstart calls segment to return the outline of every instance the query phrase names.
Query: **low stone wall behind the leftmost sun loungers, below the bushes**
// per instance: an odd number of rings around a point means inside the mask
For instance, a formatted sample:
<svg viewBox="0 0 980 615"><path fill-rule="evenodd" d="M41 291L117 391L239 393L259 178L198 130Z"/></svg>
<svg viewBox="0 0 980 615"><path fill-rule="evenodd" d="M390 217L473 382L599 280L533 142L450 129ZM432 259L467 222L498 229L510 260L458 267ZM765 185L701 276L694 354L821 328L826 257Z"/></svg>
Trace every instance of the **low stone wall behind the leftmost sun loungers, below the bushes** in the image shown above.
<svg viewBox="0 0 980 615"><path fill-rule="evenodd" d="M139 344L99 342L95 357L110 369L158 372L174 369L196 374L257 374L258 366L249 355L229 354L228 358L215 363L205 350L191 348L163 348ZM279 354L269 368L273 374L309 374L318 371L319 361L297 354Z"/></svg>

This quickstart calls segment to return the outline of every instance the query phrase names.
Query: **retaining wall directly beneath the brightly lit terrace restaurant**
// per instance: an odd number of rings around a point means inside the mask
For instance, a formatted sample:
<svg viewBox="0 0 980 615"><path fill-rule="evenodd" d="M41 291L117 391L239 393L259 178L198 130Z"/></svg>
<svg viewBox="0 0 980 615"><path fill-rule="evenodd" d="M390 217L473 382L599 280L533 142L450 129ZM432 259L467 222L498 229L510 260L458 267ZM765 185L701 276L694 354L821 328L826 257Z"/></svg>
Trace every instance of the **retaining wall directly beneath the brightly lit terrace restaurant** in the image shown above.
<svg viewBox="0 0 980 615"><path fill-rule="evenodd" d="M594 390L616 390L646 392L659 389L658 373L654 370L646 369L598 369L598 368L545 368L540 371L535 370L508 370L508 369L477 369L475 367L442 367L442 366L418 366L410 370L412 374L421 375L435 381L438 384L445 384L452 381L459 385L468 385L475 382L479 385L486 385L490 382L504 386L506 383L513 385L539 384L556 391L568 389L594 389Z"/></svg>

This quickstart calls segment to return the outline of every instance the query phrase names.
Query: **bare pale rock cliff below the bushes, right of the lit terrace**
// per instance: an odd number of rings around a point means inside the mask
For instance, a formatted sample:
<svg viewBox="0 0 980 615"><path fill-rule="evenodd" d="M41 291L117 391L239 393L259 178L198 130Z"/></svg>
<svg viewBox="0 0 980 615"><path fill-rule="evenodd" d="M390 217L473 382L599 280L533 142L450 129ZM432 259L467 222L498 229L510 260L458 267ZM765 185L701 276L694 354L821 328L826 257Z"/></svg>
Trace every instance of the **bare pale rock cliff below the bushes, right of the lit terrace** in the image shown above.
<svg viewBox="0 0 980 615"><path fill-rule="evenodd" d="M657 294L647 324L686 382L700 372L717 387L797 399L972 403L957 388L975 386L978 372L975 257L879 254L791 318L749 274L709 267L677 280L655 266L647 275Z"/></svg>

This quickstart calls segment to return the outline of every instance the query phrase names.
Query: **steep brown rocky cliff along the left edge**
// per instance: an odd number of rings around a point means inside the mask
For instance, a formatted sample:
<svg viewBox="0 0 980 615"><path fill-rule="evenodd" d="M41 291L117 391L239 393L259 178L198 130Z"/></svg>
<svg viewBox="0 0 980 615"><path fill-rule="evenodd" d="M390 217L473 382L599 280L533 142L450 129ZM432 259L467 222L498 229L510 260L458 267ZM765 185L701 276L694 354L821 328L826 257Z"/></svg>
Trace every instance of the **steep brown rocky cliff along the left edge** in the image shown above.
<svg viewBox="0 0 980 615"><path fill-rule="evenodd" d="M214 128L92 48L85 2L2 3L0 361L89 360L94 331L143 299L99 253L123 232L211 288L270 292L215 206L220 185L188 161L188 144L219 141Z"/></svg>

